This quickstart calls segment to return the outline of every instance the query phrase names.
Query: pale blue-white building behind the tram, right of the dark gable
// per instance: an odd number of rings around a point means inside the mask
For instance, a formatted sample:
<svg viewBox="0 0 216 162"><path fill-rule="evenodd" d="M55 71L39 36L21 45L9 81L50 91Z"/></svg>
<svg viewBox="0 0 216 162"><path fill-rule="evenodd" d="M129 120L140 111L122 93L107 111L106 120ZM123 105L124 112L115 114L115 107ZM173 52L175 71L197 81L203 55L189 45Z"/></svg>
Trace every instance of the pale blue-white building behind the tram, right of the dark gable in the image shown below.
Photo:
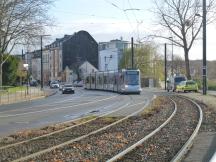
<svg viewBox="0 0 216 162"><path fill-rule="evenodd" d="M119 62L125 49L131 48L131 43L115 39L110 42L99 43L99 70L118 70Z"/></svg>

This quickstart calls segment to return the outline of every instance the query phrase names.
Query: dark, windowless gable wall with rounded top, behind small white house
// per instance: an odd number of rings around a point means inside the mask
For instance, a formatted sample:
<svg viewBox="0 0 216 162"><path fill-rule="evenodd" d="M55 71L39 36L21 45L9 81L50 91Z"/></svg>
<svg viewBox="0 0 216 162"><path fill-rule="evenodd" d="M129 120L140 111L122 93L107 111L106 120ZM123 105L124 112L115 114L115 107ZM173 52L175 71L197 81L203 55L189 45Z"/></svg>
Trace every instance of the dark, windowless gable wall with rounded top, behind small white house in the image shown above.
<svg viewBox="0 0 216 162"><path fill-rule="evenodd" d="M98 68L98 44L88 32L79 31L63 41L62 57L63 69L74 69L83 61Z"/></svg>

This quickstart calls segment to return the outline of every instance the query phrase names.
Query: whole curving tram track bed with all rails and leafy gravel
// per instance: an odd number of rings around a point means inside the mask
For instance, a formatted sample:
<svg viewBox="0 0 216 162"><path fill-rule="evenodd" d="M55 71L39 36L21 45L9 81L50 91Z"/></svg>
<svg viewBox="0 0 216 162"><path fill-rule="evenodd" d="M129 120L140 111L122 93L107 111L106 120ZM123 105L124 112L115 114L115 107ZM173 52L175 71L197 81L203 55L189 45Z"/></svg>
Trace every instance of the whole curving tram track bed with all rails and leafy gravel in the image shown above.
<svg viewBox="0 0 216 162"><path fill-rule="evenodd" d="M143 102L124 117L97 118L75 126L70 133L47 135L45 139L30 140L29 146L6 148L0 156L15 154L5 161L179 161L197 134L202 122L202 111L194 101L173 96L153 104L146 114ZM161 103L162 102L162 103ZM138 115L137 115L138 114ZM198 115L199 114L199 115ZM61 140L64 139L64 140ZM42 141L42 143L39 143ZM57 142L56 142L57 141ZM51 143L51 144L50 144ZM175 143L175 145L173 145ZM34 145L39 145L34 148ZM42 147L41 147L42 146ZM25 150L28 154L23 154ZM20 150L20 151L19 151ZM30 150L30 151L29 151ZM5 157L6 158L6 157Z"/></svg>

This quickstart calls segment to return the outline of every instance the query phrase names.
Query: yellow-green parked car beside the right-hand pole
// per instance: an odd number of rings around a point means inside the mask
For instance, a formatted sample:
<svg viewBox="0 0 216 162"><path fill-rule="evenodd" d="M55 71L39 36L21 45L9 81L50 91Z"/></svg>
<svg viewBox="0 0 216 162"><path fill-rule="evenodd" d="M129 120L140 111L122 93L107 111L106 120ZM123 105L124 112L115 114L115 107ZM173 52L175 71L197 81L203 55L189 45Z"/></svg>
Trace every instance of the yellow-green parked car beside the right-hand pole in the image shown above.
<svg viewBox="0 0 216 162"><path fill-rule="evenodd" d="M179 85L176 87L176 92L198 92L198 85L193 80L188 81L182 81Z"/></svg>

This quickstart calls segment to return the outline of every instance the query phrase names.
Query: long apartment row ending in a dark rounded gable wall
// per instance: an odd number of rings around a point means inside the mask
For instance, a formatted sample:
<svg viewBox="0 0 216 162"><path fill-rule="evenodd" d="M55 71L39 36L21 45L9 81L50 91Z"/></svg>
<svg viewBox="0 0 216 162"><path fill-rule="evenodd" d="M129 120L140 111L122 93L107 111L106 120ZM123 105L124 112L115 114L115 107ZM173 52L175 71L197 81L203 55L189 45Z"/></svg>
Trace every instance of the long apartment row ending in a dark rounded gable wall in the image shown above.
<svg viewBox="0 0 216 162"><path fill-rule="evenodd" d="M40 80L40 50L29 52L27 60L32 75ZM75 73L84 61L98 68L98 44L88 32L79 31L57 38L43 49L44 83L49 80L65 80L65 68L68 67L67 71Z"/></svg>

